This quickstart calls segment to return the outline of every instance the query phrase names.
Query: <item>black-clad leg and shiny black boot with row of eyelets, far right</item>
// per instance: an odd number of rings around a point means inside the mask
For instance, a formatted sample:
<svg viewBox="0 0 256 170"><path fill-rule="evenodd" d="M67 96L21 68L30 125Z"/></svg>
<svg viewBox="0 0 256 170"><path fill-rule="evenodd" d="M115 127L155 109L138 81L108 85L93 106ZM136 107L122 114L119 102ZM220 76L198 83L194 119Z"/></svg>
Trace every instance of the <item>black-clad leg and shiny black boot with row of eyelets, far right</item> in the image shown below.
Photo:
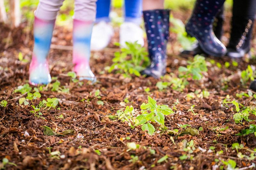
<svg viewBox="0 0 256 170"><path fill-rule="evenodd" d="M255 0L234 0L232 29L227 46L227 56L242 58L250 54L252 29L256 12Z"/></svg>

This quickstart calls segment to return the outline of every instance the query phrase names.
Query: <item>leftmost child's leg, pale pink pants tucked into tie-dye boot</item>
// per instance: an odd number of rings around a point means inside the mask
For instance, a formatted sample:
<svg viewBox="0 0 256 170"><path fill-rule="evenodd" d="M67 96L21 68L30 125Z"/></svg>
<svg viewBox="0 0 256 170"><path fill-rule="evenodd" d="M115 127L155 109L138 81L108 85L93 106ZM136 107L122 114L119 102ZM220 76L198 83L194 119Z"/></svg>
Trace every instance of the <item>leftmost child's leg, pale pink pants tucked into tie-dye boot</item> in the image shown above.
<svg viewBox="0 0 256 170"><path fill-rule="evenodd" d="M34 49L29 66L29 83L32 85L48 84L51 82L47 55L57 12L63 0L40 0L35 11Z"/></svg>

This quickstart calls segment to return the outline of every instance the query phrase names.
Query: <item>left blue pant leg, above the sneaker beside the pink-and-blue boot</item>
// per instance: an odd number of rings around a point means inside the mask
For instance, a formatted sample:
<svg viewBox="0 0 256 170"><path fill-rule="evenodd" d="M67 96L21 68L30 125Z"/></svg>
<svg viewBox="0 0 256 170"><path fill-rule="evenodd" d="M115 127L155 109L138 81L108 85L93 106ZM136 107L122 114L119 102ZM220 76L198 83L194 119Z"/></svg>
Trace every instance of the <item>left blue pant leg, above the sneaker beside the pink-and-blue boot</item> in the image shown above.
<svg viewBox="0 0 256 170"><path fill-rule="evenodd" d="M96 6L96 22L109 22L110 0L98 0Z"/></svg>

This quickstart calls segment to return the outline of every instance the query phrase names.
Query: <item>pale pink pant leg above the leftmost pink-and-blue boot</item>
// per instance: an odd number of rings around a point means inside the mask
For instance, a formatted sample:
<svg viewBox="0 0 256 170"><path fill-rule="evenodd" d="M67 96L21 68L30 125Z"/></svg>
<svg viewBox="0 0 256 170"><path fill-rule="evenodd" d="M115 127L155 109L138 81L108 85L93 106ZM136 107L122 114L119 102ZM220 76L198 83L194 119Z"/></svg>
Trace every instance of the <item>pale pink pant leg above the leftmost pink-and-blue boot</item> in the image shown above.
<svg viewBox="0 0 256 170"><path fill-rule="evenodd" d="M54 20L64 0L40 0L35 16L44 20Z"/></svg>

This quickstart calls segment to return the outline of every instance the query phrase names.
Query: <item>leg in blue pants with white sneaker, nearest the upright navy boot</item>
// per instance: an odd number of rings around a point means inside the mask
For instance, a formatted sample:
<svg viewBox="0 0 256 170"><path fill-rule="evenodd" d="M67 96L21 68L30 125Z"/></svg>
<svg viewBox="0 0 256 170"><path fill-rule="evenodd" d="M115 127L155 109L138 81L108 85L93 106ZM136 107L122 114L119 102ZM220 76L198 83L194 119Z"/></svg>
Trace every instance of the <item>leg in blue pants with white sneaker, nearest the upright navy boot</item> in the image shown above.
<svg viewBox="0 0 256 170"><path fill-rule="evenodd" d="M120 26L120 45L126 47L125 42L138 42L144 45L143 30L140 28L142 20L142 0L125 0L124 23Z"/></svg>

